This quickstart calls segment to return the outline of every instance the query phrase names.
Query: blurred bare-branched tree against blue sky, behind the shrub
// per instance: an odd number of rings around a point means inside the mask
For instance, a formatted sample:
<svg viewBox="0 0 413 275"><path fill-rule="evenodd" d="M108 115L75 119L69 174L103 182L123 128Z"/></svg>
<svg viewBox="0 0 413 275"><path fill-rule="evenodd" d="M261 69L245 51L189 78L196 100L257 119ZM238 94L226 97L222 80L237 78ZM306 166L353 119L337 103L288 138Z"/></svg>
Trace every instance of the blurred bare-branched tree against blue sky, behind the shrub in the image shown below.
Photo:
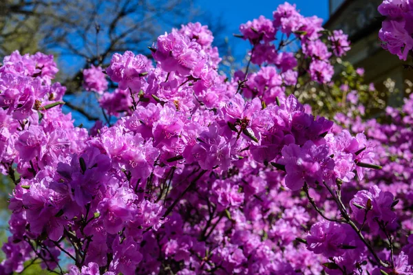
<svg viewBox="0 0 413 275"><path fill-rule="evenodd" d="M116 52L146 54L163 31L189 21L223 33L219 18L200 12L190 0L4 0L0 3L0 56L44 52L58 56L58 79L67 87L66 111L78 119L101 117L90 94L79 96L82 70L106 67ZM216 39L224 41L224 39ZM225 43L218 45L221 49ZM72 109L72 110L69 110Z"/></svg>

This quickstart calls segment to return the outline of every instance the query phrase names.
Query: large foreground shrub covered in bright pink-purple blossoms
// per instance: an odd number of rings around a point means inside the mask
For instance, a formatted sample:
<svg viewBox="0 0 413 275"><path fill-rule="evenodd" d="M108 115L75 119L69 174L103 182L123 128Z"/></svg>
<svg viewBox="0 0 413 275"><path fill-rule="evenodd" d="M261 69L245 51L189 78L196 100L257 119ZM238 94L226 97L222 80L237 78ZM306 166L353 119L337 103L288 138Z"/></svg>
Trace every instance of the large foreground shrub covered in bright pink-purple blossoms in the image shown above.
<svg viewBox="0 0 413 275"><path fill-rule="evenodd" d="M68 259L71 275L410 274L411 215L394 190L361 184L381 168L374 142L286 95L303 70L330 82L349 50L321 23L285 3L242 24L250 62L231 79L200 23L159 36L155 62L115 54L115 91L99 67L84 72L107 118L90 133L62 113L50 56L6 57L0 162L15 188L0 274L30 259L57 274Z"/></svg>

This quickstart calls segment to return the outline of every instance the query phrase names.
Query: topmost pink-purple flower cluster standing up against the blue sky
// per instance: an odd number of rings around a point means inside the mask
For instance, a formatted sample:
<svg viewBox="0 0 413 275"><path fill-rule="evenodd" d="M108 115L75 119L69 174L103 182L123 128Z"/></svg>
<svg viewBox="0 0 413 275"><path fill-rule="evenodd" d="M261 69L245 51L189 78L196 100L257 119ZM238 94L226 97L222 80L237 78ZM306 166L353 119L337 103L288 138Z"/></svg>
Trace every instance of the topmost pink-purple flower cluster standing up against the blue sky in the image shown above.
<svg viewBox="0 0 413 275"><path fill-rule="evenodd" d="M251 63L260 65L260 70L248 77L238 72L237 80L246 86L244 96L260 97L266 103L275 102L276 98L285 98L286 87L295 85L297 78L306 74L309 80L330 83L334 74L331 61L333 57L346 54L350 43L341 30L328 32L321 23L321 19L303 17L295 5L284 3L273 12L273 21L261 16L240 25L240 37L252 45ZM286 39L275 45L279 33ZM324 34L327 34L326 39ZM291 43L301 47L301 54L288 52ZM297 69L298 64L302 72Z"/></svg>

